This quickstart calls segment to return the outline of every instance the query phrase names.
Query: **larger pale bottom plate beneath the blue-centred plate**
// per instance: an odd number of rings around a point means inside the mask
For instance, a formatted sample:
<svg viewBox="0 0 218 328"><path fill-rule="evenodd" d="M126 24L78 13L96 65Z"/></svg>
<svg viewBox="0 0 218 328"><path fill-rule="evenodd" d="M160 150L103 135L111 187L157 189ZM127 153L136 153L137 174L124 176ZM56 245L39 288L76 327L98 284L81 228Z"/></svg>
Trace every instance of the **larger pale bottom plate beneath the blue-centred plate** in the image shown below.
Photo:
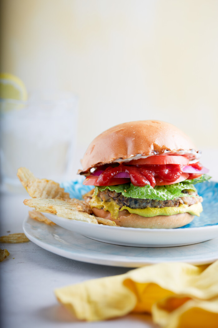
<svg viewBox="0 0 218 328"><path fill-rule="evenodd" d="M140 267L160 262L200 265L218 259L218 238L189 246L141 248L100 243L58 225L48 226L30 218L25 219L23 228L25 235L45 250L88 263Z"/></svg>

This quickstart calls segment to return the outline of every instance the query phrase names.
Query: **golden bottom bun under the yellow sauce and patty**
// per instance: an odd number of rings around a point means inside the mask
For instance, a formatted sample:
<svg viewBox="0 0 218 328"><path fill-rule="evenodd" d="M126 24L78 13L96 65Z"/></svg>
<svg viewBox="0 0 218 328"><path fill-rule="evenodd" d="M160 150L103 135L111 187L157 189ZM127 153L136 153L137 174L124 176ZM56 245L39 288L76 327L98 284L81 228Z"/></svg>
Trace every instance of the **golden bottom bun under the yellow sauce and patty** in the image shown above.
<svg viewBox="0 0 218 328"><path fill-rule="evenodd" d="M119 212L119 217L117 219L112 219L109 211L93 207L92 212L95 216L109 219L111 221L116 222L116 224L121 227L128 228L179 228L190 223L194 218L194 215L191 215L189 213L144 217L138 214L131 214L127 210L123 210Z"/></svg>

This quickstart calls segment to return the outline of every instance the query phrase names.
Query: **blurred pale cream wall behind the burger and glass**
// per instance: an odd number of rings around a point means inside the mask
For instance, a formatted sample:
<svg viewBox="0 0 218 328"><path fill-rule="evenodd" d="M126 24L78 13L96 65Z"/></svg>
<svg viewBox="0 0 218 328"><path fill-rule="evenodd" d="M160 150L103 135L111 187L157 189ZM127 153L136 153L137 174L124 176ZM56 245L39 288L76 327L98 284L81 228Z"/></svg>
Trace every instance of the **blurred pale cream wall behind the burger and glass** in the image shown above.
<svg viewBox="0 0 218 328"><path fill-rule="evenodd" d="M0 71L28 91L78 96L72 177L96 135L144 119L182 129L210 168L218 154L217 17L214 0L2 0Z"/></svg>

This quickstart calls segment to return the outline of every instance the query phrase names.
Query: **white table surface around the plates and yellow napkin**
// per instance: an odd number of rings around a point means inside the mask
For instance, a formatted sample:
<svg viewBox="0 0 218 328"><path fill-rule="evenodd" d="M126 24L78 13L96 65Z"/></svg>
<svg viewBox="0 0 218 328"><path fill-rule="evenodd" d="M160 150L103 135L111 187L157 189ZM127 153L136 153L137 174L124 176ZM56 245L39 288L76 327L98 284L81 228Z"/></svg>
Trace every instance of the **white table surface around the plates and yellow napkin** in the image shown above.
<svg viewBox="0 0 218 328"><path fill-rule="evenodd" d="M218 181L218 151L204 152L202 163ZM28 213L23 200L28 195L1 194L1 235L23 232L22 223ZM31 241L1 244L10 255L1 262L1 322L4 328L50 327L156 327L148 315L128 315L101 322L78 321L61 306L54 289L88 279L119 275L128 268L110 267L70 260L50 253Z"/></svg>

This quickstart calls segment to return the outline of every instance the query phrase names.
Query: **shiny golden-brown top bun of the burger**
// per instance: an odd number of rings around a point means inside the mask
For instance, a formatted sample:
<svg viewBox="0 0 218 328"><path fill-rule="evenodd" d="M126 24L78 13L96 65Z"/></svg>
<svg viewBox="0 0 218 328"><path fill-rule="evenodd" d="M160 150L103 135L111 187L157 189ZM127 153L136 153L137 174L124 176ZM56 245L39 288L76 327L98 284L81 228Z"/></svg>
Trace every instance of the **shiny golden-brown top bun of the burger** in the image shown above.
<svg viewBox="0 0 218 328"><path fill-rule="evenodd" d="M190 138L174 125L162 121L135 121L116 125L99 134L89 145L81 163L83 174L97 164L127 159L137 154L163 154L165 151L196 155Z"/></svg>

